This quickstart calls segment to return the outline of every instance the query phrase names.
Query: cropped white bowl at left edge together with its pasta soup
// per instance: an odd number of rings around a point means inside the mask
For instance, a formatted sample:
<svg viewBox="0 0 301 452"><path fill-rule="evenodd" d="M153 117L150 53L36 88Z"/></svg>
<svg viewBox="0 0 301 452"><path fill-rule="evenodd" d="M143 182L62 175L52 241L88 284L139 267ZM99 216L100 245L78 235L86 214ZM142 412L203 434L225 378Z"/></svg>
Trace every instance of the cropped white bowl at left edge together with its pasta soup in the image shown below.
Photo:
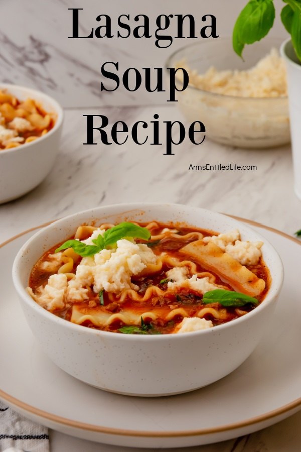
<svg viewBox="0 0 301 452"><path fill-rule="evenodd" d="M0 84L0 203L39 185L58 153L63 110L35 89Z"/></svg>

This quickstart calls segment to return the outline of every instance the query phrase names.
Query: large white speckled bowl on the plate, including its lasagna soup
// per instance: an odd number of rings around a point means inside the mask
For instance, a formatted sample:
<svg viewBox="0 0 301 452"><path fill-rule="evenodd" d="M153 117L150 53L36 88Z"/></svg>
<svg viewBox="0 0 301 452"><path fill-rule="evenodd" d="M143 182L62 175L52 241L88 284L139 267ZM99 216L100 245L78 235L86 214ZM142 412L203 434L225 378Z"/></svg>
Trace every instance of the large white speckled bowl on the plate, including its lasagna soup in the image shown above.
<svg viewBox="0 0 301 452"><path fill-rule="evenodd" d="M97 388L192 391L234 371L270 322L283 269L244 223L177 204L97 207L20 250L13 280L49 358Z"/></svg>

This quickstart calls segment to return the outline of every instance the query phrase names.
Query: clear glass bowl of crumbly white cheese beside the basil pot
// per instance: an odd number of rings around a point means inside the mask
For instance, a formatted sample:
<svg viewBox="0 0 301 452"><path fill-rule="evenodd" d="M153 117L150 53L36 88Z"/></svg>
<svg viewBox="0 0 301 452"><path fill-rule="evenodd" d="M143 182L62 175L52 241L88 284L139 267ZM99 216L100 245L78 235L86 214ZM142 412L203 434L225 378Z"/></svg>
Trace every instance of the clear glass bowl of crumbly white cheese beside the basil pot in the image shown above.
<svg viewBox="0 0 301 452"><path fill-rule="evenodd" d="M289 143L286 71L281 39L260 41L244 60L230 38L195 43L176 51L166 67L184 68L189 85L178 105L189 121L201 121L209 139L240 148L271 148ZM179 88L183 75L177 72Z"/></svg>

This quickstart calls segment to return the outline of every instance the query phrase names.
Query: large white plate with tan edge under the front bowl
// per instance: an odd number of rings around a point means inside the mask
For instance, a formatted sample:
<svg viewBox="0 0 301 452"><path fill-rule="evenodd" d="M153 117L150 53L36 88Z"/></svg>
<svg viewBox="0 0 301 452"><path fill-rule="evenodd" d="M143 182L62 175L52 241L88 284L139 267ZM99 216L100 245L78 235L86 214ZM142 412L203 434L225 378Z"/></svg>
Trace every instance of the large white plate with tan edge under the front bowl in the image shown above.
<svg viewBox="0 0 301 452"><path fill-rule="evenodd" d="M222 441L278 422L301 408L300 243L253 224L280 254L284 286L264 340L231 375L171 397L137 398L88 386L40 350L15 293L11 268L33 231L0 248L0 398L55 430L92 441L184 447ZM167 363L168 365L168 363Z"/></svg>

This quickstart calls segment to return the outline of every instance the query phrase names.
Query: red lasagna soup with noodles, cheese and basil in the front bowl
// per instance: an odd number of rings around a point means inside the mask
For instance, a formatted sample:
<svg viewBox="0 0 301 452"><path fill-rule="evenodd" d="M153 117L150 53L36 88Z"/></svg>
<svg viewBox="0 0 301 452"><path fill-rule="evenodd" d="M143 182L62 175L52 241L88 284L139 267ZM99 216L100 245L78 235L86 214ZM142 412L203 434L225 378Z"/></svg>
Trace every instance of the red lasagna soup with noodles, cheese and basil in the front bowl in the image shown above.
<svg viewBox="0 0 301 452"><path fill-rule="evenodd" d="M80 226L47 251L27 288L73 323L132 334L183 333L246 315L264 299L262 242L238 230L123 222Z"/></svg>

